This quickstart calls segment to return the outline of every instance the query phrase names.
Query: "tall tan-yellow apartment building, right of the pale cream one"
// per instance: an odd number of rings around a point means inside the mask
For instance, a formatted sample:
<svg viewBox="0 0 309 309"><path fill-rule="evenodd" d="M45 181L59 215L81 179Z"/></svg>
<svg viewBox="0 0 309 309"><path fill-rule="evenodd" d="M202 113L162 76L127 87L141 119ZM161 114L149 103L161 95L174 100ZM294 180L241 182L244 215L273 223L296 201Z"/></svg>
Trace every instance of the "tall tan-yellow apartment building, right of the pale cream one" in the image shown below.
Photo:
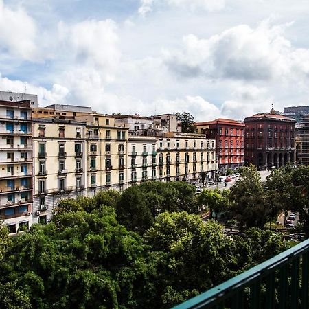
<svg viewBox="0 0 309 309"><path fill-rule="evenodd" d="M100 190L128 187L128 126L111 115L91 113L75 117L86 122L88 195Z"/></svg>

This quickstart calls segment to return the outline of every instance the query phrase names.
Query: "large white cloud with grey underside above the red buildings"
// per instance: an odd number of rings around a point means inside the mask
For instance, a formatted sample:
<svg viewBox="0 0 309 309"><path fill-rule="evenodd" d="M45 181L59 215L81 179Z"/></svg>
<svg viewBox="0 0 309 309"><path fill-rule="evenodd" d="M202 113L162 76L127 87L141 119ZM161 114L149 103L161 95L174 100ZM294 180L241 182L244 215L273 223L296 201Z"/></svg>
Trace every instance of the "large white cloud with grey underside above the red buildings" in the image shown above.
<svg viewBox="0 0 309 309"><path fill-rule="evenodd" d="M181 50L165 51L165 63L182 77L231 80L281 80L308 76L309 51L284 38L290 24L255 29L238 25L208 39L183 38Z"/></svg>

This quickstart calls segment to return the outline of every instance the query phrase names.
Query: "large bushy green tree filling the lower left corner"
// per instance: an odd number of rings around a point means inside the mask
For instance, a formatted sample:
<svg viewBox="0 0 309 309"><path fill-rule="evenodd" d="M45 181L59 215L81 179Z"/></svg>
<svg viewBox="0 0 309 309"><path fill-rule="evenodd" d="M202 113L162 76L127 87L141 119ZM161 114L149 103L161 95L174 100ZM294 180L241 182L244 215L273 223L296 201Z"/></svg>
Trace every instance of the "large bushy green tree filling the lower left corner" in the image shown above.
<svg viewBox="0 0 309 309"><path fill-rule="evenodd" d="M0 264L0 307L150 308L155 263L112 207L58 213L12 238Z"/></svg>

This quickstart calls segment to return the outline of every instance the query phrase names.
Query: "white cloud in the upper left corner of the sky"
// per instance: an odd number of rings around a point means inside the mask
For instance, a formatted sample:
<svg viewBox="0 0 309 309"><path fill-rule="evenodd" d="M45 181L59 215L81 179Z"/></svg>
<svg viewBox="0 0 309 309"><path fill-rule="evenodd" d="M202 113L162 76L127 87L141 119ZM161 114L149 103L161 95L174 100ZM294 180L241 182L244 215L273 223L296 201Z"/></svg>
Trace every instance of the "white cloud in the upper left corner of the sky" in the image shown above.
<svg viewBox="0 0 309 309"><path fill-rule="evenodd" d="M11 10L0 0L0 45L23 60L38 60L36 23L23 10Z"/></svg>

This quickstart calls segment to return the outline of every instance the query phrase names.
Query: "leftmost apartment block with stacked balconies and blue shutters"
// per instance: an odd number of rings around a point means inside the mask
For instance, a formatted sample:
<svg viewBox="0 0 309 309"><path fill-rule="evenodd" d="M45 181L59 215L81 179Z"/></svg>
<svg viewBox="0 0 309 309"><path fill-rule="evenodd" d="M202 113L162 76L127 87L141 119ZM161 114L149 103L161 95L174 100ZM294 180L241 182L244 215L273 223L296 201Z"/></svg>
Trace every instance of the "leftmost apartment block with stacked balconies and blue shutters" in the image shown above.
<svg viewBox="0 0 309 309"><path fill-rule="evenodd" d="M0 218L10 233L32 225L32 103L0 101Z"/></svg>

